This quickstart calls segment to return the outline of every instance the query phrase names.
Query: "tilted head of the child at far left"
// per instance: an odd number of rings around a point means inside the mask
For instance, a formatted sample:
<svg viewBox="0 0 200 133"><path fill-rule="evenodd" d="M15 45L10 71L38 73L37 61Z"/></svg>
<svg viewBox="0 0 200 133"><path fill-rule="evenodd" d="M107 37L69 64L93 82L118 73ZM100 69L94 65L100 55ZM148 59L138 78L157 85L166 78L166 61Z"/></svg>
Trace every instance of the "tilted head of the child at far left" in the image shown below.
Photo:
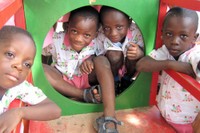
<svg viewBox="0 0 200 133"><path fill-rule="evenodd" d="M22 83L30 72L36 53L31 35L15 26L0 30L0 89Z"/></svg>

